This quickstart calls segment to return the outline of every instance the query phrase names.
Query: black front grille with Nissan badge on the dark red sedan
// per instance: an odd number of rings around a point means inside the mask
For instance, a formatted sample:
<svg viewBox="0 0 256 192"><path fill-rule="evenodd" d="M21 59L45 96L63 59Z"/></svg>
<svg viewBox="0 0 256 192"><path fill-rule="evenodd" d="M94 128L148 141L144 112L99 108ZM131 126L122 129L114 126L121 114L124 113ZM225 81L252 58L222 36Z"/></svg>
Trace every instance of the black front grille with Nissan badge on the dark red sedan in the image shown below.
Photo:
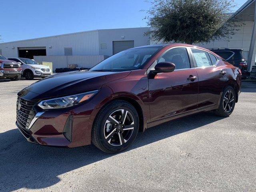
<svg viewBox="0 0 256 192"><path fill-rule="evenodd" d="M31 120L35 116L33 106L38 102L37 100L28 101L20 97L17 98L16 102L16 120L19 126L23 129L28 129ZM19 106L20 104L20 106ZM20 109L19 109L20 108Z"/></svg>

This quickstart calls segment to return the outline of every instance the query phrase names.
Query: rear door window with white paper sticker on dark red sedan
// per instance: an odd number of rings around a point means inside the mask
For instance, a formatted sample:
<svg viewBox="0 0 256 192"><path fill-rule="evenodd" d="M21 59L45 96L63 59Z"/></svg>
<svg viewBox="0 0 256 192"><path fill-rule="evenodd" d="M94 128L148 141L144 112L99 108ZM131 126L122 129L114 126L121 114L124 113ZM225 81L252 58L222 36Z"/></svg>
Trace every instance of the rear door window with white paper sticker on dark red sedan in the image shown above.
<svg viewBox="0 0 256 192"><path fill-rule="evenodd" d="M210 60L208 52L198 50L198 49L191 49L193 56L196 60L197 67L204 67L204 66L211 66L212 62Z"/></svg>

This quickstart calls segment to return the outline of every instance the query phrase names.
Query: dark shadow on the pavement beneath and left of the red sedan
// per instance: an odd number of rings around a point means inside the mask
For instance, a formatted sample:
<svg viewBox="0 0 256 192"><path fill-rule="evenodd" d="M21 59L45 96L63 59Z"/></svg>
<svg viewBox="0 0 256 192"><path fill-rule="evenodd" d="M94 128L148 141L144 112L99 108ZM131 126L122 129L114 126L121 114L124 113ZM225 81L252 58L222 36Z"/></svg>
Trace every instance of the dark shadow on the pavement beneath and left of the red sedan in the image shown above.
<svg viewBox="0 0 256 192"><path fill-rule="evenodd" d="M195 114L166 122L149 128L144 133L139 133L128 150L134 150L221 119L222 117L215 116L212 112L205 112L203 116ZM61 174L116 155L106 154L93 145L53 148L31 144L23 138L18 129L0 133L0 144L0 191L2 192L52 186L60 181L58 176Z"/></svg>

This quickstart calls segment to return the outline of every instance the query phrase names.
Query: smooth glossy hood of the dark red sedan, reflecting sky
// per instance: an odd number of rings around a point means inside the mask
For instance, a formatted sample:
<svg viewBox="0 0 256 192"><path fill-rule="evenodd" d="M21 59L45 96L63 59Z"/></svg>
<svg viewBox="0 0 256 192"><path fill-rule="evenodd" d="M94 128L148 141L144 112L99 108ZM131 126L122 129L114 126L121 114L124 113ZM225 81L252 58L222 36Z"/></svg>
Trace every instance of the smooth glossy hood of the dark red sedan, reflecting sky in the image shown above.
<svg viewBox="0 0 256 192"><path fill-rule="evenodd" d="M128 74L130 74L130 71L74 71L55 74L24 88L18 93L18 96L27 100L35 100L78 94L100 89L103 84L124 78L128 76Z"/></svg>

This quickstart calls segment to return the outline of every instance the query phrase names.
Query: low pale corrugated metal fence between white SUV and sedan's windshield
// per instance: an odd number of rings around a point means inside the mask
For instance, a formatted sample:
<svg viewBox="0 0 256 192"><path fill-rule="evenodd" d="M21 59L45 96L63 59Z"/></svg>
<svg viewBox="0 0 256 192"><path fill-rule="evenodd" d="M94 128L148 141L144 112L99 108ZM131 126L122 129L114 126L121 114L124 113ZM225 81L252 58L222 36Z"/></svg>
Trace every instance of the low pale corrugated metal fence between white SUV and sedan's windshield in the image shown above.
<svg viewBox="0 0 256 192"><path fill-rule="evenodd" d="M78 67L91 68L104 60L104 55L70 55L70 56L34 56L36 62L52 62L52 68L66 68L68 64L77 64Z"/></svg>

